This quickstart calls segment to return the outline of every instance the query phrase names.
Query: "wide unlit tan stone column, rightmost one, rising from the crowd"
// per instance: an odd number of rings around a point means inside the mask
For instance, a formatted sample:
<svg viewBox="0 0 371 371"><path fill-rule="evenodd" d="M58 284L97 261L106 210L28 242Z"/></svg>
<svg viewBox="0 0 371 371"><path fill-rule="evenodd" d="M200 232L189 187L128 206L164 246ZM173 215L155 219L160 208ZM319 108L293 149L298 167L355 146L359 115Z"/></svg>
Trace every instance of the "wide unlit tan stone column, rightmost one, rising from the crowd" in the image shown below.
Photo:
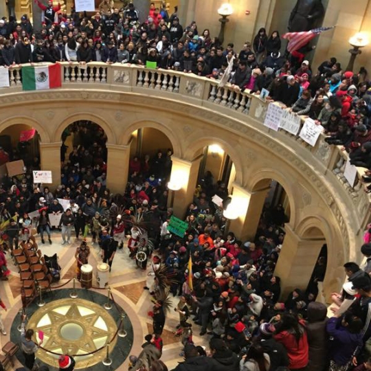
<svg viewBox="0 0 371 371"><path fill-rule="evenodd" d="M284 225L286 236L274 274L281 278L281 296L285 298L290 291L305 290L311 279L324 238L300 238L291 225Z"/></svg>

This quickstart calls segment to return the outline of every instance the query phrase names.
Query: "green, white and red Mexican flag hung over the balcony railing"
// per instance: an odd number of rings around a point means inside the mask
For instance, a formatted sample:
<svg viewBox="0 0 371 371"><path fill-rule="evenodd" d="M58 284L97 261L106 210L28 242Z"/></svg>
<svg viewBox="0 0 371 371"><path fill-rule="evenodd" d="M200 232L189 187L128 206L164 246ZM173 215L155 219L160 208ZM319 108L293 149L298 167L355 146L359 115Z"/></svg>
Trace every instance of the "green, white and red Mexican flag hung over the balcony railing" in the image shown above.
<svg viewBox="0 0 371 371"><path fill-rule="evenodd" d="M62 86L60 64L22 68L23 90L54 89Z"/></svg>

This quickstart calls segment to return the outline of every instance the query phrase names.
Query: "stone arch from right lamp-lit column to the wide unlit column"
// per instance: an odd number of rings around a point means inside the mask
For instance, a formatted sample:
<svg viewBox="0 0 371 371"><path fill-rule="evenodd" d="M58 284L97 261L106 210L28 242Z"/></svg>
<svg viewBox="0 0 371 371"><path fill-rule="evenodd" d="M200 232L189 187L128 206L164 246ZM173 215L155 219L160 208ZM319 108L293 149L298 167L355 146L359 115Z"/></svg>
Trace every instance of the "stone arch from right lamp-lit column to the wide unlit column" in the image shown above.
<svg viewBox="0 0 371 371"><path fill-rule="evenodd" d="M250 170L250 169L249 169ZM291 225L295 225L295 220L297 218L297 204L295 203L295 191L293 190L291 184L287 181L287 177L284 177L283 174L278 172L272 168L260 168L256 170L256 172L249 172L251 177L249 178L249 183L247 185L247 189L251 192L257 192L262 188L266 188L268 186L267 179L275 180L280 183L280 185L284 188L287 196L289 197L290 203L290 221ZM270 184L270 183L269 183Z"/></svg>

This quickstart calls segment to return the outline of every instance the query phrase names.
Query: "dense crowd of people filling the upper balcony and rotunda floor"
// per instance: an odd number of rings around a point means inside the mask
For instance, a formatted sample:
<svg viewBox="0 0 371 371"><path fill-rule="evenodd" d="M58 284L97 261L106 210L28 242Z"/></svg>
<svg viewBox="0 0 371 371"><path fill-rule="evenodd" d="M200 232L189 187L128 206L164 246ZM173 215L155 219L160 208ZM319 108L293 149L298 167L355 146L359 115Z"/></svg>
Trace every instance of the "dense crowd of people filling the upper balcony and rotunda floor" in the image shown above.
<svg viewBox="0 0 371 371"><path fill-rule="evenodd" d="M118 9L112 1L103 0L100 12L93 16L74 10L67 15L52 1L37 3L44 12L41 32L33 32L27 16L20 23L12 16L0 20L0 65L12 68L29 62L85 64L93 60L146 65L149 61L159 68L221 79L232 63L229 82L233 89L255 93L267 89L267 100L312 117L324 127L329 144L344 146L350 153L352 164L371 168L371 85L364 69L359 74L344 71L336 58L330 58L313 71L305 59L310 48L281 54L280 34L274 31L269 36L264 28L253 43L245 43L236 52L233 43L224 48L209 30L199 33L196 22L183 27L177 8L169 15L165 6L157 9L153 3L144 23L138 22L132 3ZM67 144L70 136L72 148ZM337 309L328 319L326 306L315 302L317 282L324 278L324 256L308 288L295 289L282 300L280 278L274 273L284 240L282 205L267 203L256 237L241 241L226 229L223 207L212 201L216 194L227 205L225 183L206 172L186 215L177 215L188 224L184 236L177 236L168 228L173 214L166 188L171 148L152 157L133 157L126 188L122 194L111 194L106 185L102 129L92 122L76 122L62 139L62 177L55 192L35 186L30 171L4 179L0 222L8 225L2 231L3 247L14 249L19 240L30 238L34 220L28 214L37 211L36 233L41 243L46 234L52 244L53 228L61 229L63 244L71 243L73 234L76 239L82 236L76 250L78 269L88 261L89 244L100 245L102 259L111 269L117 249L127 246L135 258L142 242L133 232L146 229L145 243L150 240L152 245L146 250L151 264L144 289L155 301L149 313L153 334L146 336L142 353L130 357L129 370L167 370L160 358L161 333L169 310L179 315L174 336L181 337L185 358L176 371L346 371L351 365L357 371L371 369L370 238L361 247L366 267L356 262L344 265L348 280L341 293L333 294ZM34 166L38 166L36 160ZM371 182L371 170L363 180ZM58 199L69 200L69 206L63 207ZM56 225L51 223L52 216L53 220L60 217ZM8 268L1 254L1 274L6 278ZM146 263L140 267L146 269ZM161 267L171 278L166 289L179 296L175 308L157 296L164 290L157 276ZM194 344L196 326L200 326L200 336L210 335L207 350ZM24 326L22 336L32 346ZM65 361L69 360L61 360Z"/></svg>

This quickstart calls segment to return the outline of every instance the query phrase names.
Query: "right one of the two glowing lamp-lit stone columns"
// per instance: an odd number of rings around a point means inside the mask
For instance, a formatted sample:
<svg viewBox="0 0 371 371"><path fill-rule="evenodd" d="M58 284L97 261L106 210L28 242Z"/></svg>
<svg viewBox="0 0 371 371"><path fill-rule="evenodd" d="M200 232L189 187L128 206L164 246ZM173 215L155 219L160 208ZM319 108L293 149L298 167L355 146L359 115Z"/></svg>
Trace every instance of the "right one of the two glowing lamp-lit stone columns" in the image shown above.
<svg viewBox="0 0 371 371"><path fill-rule="evenodd" d="M234 232L239 240L254 239L268 191L269 186L250 192L233 184L232 202L238 205L240 216L230 221L228 230Z"/></svg>

